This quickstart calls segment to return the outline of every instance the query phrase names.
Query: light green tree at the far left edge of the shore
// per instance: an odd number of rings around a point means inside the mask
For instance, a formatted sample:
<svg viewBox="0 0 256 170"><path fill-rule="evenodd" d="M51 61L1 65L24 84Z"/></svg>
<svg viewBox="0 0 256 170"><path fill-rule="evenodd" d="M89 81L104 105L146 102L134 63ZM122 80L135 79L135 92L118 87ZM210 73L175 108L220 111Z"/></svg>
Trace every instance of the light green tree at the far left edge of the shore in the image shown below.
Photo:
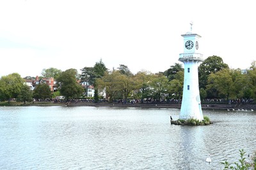
<svg viewBox="0 0 256 170"><path fill-rule="evenodd" d="M8 102L10 102L12 98L17 98L24 86L23 84L24 79L20 77L19 73L12 73L1 77L0 100L8 100Z"/></svg>

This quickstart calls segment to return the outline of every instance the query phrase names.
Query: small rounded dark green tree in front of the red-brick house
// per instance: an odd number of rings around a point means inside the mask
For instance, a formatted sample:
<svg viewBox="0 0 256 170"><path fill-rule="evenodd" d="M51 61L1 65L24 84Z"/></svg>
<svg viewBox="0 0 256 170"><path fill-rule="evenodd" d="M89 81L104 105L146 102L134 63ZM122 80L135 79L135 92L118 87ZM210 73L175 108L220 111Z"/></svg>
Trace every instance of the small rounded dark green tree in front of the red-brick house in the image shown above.
<svg viewBox="0 0 256 170"><path fill-rule="evenodd" d="M51 98L51 89L45 83L38 84L34 89L33 97L38 99L45 100L46 98Z"/></svg>

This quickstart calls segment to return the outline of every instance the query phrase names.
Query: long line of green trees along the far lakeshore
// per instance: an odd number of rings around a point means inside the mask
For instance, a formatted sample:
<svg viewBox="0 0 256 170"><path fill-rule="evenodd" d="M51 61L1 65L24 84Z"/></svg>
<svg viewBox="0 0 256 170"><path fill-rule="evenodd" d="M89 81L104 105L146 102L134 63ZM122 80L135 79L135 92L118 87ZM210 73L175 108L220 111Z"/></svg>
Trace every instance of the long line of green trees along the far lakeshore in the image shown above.
<svg viewBox="0 0 256 170"><path fill-rule="evenodd" d="M69 100L83 97L89 85L95 88L95 102L99 102L100 93L106 93L109 102L179 102L182 98L184 68L179 63L164 72L141 71L133 74L125 65L109 70L100 59L94 66L86 66L80 71L81 74L73 68L64 72L57 68L44 69L42 76L54 77L57 82L58 91L54 93L44 83L30 91L19 73L3 76L0 79L0 100L10 102L15 98L25 103L33 98L45 100L56 95L63 95ZM210 56L198 67L198 78L202 101L256 98L256 61L252 62L249 69L241 70L229 68L219 56ZM81 86L82 82L85 88Z"/></svg>

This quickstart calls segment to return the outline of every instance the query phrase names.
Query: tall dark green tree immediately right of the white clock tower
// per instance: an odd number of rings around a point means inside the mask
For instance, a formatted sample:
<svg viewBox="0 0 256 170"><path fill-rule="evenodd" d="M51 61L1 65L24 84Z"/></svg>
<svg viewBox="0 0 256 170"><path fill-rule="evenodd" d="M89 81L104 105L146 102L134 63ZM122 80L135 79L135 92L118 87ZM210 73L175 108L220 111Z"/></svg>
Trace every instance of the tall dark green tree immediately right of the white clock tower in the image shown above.
<svg viewBox="0 0 256 170"><path fill-rule="evenodd" d="M211 56L203 63L200 64L198 68L198 78L200 88L206 88L208 76L211 73L216 73L223 68L228 68L228 65L223 63L223 59L219 56Z"/></svg>

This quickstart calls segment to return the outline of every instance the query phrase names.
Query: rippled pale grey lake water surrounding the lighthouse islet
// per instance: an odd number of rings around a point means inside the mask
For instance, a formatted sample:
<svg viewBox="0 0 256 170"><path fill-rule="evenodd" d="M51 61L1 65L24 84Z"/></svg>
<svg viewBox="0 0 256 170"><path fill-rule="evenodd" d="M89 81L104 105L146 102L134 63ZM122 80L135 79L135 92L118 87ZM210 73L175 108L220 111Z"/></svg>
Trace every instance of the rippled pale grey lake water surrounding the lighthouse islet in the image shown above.
<svg viewBox="0 0 256 170"><path fill-rule="evenodd" d="M212 125L171 125L179 111L0 107L0 169L221 169L256 151L256 112L203 109Z"/></svg>

